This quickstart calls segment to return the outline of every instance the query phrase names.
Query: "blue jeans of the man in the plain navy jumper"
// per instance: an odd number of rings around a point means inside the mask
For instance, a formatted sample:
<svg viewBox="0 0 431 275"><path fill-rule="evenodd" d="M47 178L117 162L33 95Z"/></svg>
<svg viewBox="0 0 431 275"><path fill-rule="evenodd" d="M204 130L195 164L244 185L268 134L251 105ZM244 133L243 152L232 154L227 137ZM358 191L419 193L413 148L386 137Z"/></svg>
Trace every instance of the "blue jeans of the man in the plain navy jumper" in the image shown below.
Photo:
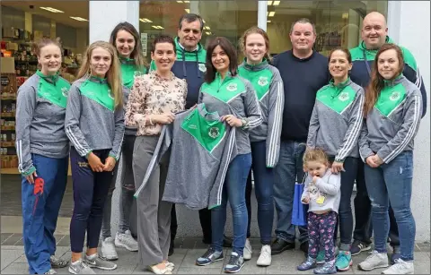
<svg viewBox="0 0 431 275"><path fill-rule="evenodd" d="M274 202L277 211L276 235L286 242L295 242L295 225L292 224L295 181L303 181L304 142L282 141L280 157L275 168ZM306 227L299 227L299 242L308 241Z"/></svg>

